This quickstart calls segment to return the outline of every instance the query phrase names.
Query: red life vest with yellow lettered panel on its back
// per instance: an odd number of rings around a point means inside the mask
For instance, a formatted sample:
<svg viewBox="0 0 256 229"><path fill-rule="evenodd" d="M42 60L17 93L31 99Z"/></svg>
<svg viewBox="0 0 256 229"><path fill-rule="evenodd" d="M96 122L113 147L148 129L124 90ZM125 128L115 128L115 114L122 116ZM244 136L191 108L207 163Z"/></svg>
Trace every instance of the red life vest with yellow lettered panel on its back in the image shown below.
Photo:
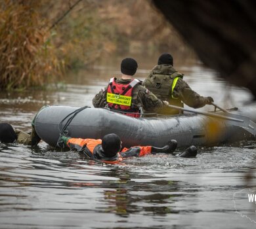
<svg viewBox="0 0 256 229"><path fill-rule="evenodd" d="M116 78L110 79L107 89L106 101L110 109L116 111L123 111L127 116L132 116L135 118L140 117L139 107L131 107L131 99L133 96L133 88L140 81L137 79L132 80L129 84L118 84L116 83Z"/></svg>

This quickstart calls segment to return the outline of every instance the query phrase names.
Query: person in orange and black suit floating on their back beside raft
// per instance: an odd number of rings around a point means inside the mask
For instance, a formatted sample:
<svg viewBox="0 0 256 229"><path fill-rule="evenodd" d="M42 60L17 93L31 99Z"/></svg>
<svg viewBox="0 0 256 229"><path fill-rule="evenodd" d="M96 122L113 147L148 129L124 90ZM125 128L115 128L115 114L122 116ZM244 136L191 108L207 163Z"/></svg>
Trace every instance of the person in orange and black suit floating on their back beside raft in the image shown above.
<svg viewBox="0 0 256 229"><path fill-rule="evenodd" d="M104 135L101 139L82 139L72 138L67 136L61 136L57 143L58 147L69 147L70 149L82 152L88 158L94 160L101 160L108 164L116 164L123 160L123 158L129 158L132 156L144 156L146 154L156 154L159 152L172 154L176 147L177 141L171 140L164 147L152 147L152 146L136 146L129 149L121 149L121 140L115 133ZM197 149L194 146L188 147L184 152L178 156L183 158L195 157Z"/></svg>

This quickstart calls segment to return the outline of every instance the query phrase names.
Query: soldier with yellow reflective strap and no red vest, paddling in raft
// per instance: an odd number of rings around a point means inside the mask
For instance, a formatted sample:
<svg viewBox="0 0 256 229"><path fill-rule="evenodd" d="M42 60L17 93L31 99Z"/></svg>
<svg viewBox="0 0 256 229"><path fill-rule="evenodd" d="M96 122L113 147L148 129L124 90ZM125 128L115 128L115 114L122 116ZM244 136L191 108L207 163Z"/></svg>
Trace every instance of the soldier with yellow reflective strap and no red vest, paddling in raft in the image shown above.
<svg viewBox="0 0 256 229"><path fill-rule="evenodd" d="M167 53L161 54L158 65L152 69L142 85L159 99L178 107L184 107L185 103L189 107L200 108L213 102L212 97L200 96L188 86L183 75L173 68L173 57ZM163 115L179 114L179 110L170 107L164 107L158 112Z"/></svg>

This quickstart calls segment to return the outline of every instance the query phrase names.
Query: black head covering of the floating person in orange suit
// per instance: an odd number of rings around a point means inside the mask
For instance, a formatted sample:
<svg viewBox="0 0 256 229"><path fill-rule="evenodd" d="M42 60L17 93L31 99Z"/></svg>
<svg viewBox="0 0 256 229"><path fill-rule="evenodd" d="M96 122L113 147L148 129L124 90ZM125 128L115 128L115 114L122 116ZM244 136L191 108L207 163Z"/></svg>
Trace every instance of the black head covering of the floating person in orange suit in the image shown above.
<svg viewBox="0 0 256 229"><path fill-rule="evenodd" d="M116 133L110 133L102 138L102 149L108 157L115 156L121 148L121 140Z"/></svg>

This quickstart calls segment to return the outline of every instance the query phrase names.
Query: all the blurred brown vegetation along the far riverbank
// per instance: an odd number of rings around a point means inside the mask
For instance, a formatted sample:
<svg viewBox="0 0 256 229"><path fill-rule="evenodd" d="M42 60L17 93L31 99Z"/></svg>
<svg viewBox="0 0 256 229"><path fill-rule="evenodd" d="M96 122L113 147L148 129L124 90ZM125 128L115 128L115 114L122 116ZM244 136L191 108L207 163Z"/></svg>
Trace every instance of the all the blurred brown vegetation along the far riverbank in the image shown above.
<svg viewBox="0 0 256 229"><path fill-rule="evenodd" d="M100 56L193 52L149 0L1 0L0 18L2 90L41 88Z"/></svg>

